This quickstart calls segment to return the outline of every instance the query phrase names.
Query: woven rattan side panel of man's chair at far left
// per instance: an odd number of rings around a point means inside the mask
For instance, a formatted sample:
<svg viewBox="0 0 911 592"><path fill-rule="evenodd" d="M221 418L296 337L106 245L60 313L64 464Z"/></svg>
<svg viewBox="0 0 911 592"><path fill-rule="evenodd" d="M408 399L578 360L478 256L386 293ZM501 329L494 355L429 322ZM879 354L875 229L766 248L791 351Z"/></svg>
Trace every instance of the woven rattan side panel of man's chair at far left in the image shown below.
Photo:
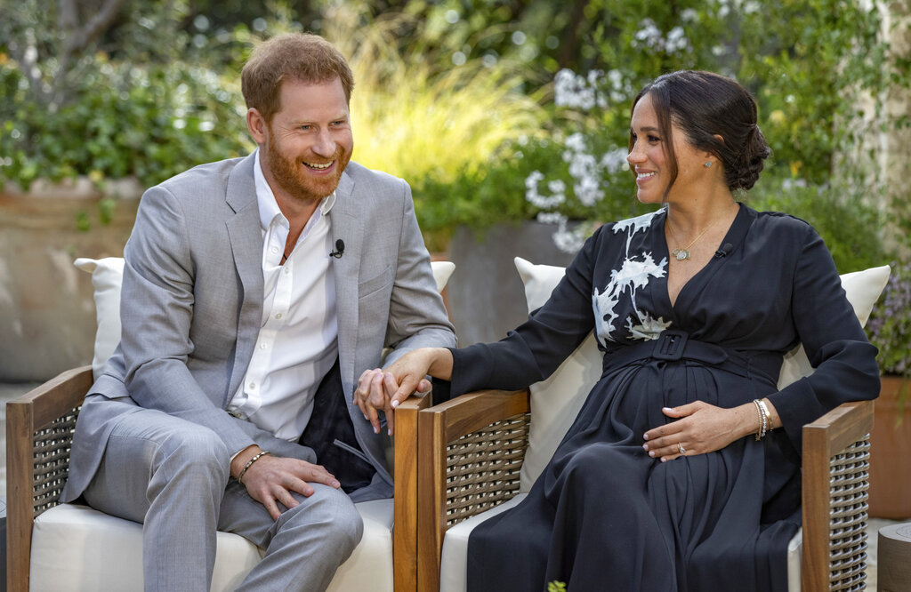
<svg viewBox="0 0 911 592"><path fill-rule="evenodd" d="M32 503L35 517L59 504L60 492L69 475L69 450L79 415L76 407L35 432L32 467Z"/></svg>

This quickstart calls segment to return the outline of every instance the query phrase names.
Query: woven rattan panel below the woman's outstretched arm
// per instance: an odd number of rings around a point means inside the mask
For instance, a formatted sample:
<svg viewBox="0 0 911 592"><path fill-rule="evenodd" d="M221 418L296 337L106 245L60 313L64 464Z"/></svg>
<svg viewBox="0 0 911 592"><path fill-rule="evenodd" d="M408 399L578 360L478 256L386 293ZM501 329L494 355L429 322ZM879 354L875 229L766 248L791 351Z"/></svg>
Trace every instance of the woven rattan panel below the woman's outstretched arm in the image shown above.
<svg viewBox="0 0 911 592"><path fill-rule="evenodd" d="M519 413L446 446L447 526L518 493L530 421L530 413Z"/></svg>

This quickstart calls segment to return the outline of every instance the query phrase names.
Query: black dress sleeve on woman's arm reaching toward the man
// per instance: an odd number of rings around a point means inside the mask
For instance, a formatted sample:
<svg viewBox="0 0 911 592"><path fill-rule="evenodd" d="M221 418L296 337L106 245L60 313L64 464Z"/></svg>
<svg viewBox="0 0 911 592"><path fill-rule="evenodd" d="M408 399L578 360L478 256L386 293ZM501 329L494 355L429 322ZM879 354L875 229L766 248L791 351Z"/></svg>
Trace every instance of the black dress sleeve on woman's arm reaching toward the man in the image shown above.
<svg viewBox="0 0 911 592"><path fill-rule="evenodd" d="M592 275L604 227L589 238L544 306L499 342L453 349L452 395L514 390L546 379L594 327Z"/></svg>

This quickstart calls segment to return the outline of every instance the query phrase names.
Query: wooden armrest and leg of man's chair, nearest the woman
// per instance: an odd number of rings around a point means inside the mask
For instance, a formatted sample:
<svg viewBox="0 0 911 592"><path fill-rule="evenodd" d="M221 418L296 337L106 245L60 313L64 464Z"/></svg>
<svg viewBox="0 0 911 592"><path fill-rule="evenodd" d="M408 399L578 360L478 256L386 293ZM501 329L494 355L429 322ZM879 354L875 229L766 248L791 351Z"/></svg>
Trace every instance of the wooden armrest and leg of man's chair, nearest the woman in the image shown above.
<svg viewBox="0 0 911 592"><path fill-rule="evenodd" d="M393 560L395 592L417 589L417 416L431 397L410 396L395 409Z"/></svg>

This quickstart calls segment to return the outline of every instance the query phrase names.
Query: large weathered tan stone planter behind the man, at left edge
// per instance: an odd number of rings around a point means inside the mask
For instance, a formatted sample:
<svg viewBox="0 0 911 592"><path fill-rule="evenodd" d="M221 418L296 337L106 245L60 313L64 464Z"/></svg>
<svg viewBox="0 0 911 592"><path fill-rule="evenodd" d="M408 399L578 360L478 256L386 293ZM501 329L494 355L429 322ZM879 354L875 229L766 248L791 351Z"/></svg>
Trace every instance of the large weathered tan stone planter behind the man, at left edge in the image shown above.
<svg viewBox="0 0 911 592"><path fill-rule="evenodd" d="M92 361L91 276L73 261L123 255L138 208L131 193L107 220L102 195L85 184L0 192L0 381L44 381Z"/></svg>

